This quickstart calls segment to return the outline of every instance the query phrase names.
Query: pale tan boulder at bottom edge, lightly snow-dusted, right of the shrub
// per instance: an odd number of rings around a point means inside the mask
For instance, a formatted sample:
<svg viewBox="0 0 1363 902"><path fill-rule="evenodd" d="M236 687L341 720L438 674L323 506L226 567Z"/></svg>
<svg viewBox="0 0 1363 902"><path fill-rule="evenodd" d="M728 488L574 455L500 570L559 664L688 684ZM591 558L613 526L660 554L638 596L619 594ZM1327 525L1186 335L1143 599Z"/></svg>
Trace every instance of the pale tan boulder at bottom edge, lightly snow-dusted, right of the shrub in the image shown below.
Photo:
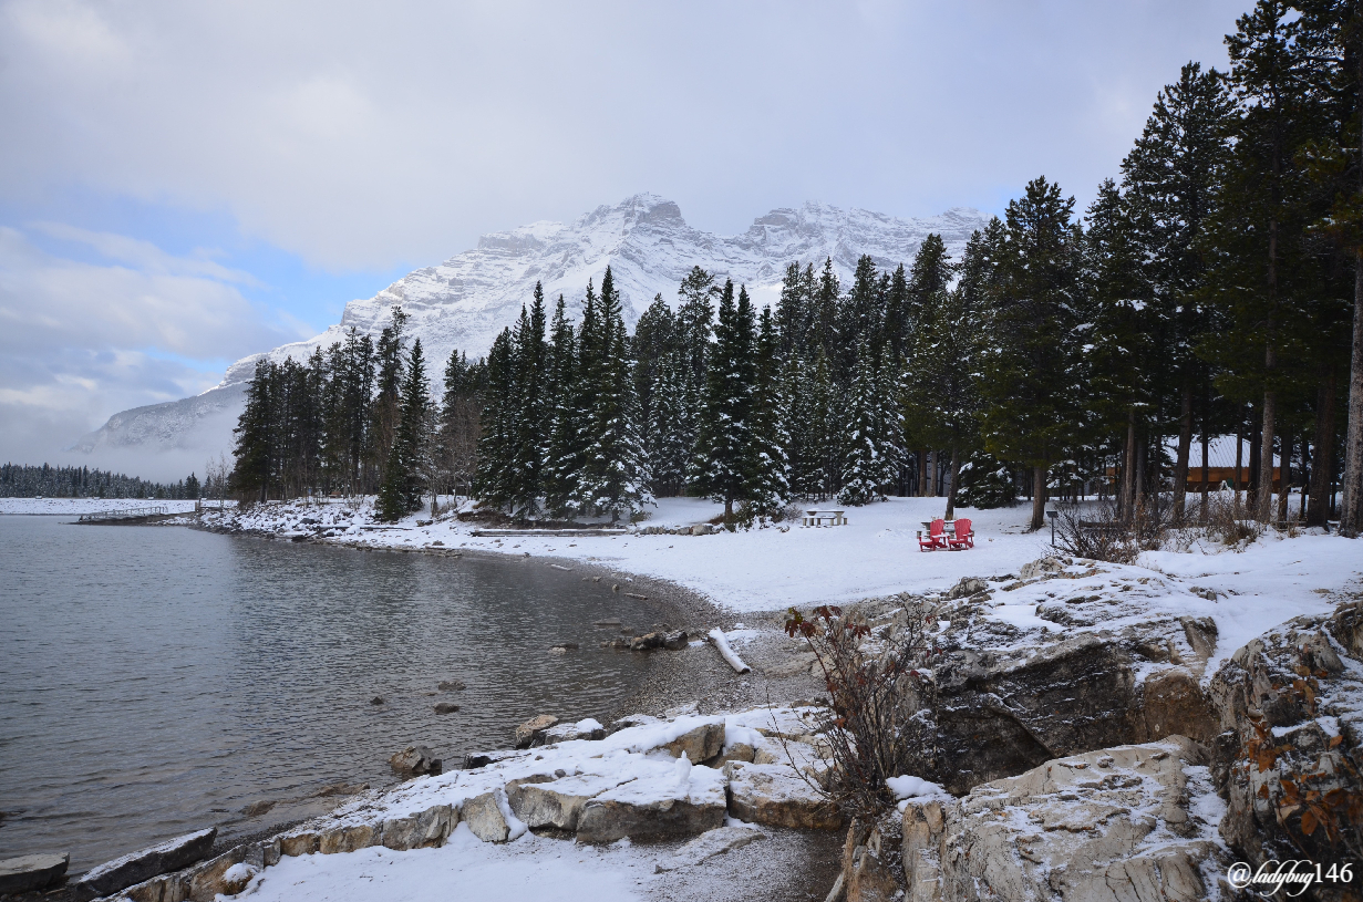
<svg viewBox="0 0 1363 902"><path fill-rule="evenodd" d="M1229 864L1208 751L1171 736L1047 762L957 801L904 807L905 897L919 902L1195 902Z"/></svg>

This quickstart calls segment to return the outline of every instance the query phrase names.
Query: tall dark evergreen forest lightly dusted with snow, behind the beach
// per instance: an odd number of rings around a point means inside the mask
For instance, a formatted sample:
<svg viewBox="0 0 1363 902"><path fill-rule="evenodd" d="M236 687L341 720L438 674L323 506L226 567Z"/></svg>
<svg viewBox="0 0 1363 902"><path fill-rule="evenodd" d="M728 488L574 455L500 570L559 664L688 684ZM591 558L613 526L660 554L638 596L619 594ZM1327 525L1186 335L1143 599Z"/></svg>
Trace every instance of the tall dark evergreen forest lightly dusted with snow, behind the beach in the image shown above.
<svg viewBox="0 0 1363 902"><path fill-rule="evenodd" d="M780 300L694 268L634 335L607 270L581 319L538 286L433 396L394 309L305 361L262 361L243 496L378 492L394 518L462 492L515 516L626 516L699 495L731 516L887 493L990 506L1186 497L1194 441L1238 435L1261 520L1343 488L1363 520L1363 5L1264 0L1228 72L1183 67L1084 211L1039 177L960 259L792 263ZM1172 448L1172 452L1167 452ZM1274 495L1274 469L1283 481ZM1206 485L1205 478L1202 485ZM1276 501L1276 504L1274 504Z"/></svg>

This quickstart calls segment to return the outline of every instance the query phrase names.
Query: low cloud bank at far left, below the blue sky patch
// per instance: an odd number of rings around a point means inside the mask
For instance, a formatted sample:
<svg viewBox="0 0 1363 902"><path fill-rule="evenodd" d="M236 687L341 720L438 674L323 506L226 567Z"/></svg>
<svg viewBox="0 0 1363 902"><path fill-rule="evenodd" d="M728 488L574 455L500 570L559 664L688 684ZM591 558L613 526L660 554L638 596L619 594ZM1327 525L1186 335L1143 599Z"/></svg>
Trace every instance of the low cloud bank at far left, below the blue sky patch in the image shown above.
<svg viewBox="0 0 1363 902"><path fill-rule="evenodd" d="M311 331L239 290L251 277L125 236L42 223L108 262L0 228L0 458L56 461L110 414L211 388L226 362Z"/></svg>

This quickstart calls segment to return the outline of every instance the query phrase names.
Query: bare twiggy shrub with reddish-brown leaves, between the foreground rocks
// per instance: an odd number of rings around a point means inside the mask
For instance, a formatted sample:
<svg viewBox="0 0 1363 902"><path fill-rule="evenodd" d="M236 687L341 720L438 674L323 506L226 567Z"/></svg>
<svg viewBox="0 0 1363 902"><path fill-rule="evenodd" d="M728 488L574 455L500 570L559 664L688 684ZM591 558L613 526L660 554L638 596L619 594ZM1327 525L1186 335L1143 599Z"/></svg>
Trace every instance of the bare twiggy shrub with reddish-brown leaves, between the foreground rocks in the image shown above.
<svg viewBox="0 0 1363 902"><path fill-rule="evenodd" d="M924 758L931 719L921 717L924 676L919 668L940 655L928 636L921 604L908 608L902 625L880 629L842 609L823 605L808 619L791 608L785 631L818 655L827 685L829 714L818 729L829 743L833 771L823 792L845 813L871 823L894 805L886 785ZM811 783L814 785L814 783Z"/></svg>

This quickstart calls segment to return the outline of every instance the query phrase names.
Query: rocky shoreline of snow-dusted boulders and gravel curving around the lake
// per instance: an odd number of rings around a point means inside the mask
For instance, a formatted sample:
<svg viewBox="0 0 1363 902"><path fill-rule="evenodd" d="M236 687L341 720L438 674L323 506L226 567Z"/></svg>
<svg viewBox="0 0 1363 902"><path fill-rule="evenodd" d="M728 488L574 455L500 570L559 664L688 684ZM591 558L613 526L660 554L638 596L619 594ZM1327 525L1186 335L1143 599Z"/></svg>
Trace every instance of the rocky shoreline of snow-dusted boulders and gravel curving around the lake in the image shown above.
<svg viewBox="0 0 1363 902"><path fill-rule="evenodd" d="M585 843L638 841L647 852L635 857L668 875L654 898L687 898L690 880L717 869L776 899L822 898L830 886L829 899L846 902L1236 898L1225 876L1235 861L1257 867L1303 843L1314 860L1347 854L1328 830L1313 835L1285 819L1300 818L1293 792L1360 789L1356 597L1340 594L1333 613L1288 620L1239 649L1224 647L1209 617L1152 608L1171 590L1159 572L1085 560L1041 559L945 593L851 605L872 640L910 610L936 623L942 659L915 699L934 740L910 773L950 792L908 796L878 823L842 831L829 830L834 819L796 771L829 767L826 749L808 725L780 725L810 718L823 692L812 655L780 631L782 615L740 617L597 563L429 550L617 580L658 605L657 627L741 634L752 673L711 649L654 651L649 677L604 718L611 728L568 725L548 745L367 793L120 898L255 891L296 854L497 843L526 827ZM773 743L806 751L792 759L784 748L782 762ZM746 833L752 824L761 842ZM763 869L763 860L786 864ZM1358 886L1321 884L1300 898L1356 899Z"/></svg>

